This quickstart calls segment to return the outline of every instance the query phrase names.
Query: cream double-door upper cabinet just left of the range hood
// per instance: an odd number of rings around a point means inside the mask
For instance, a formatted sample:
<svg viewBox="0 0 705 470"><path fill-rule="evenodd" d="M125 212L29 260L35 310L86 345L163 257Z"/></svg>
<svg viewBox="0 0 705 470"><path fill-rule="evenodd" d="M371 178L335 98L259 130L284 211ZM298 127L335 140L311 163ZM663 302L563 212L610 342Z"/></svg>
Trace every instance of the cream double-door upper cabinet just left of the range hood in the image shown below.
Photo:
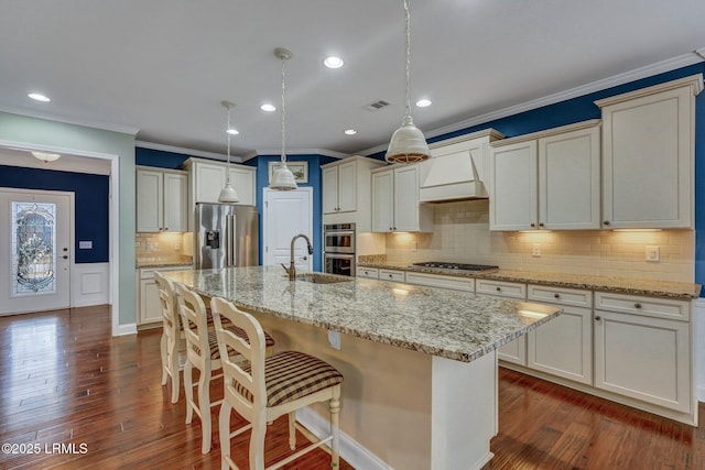
<svg viewBox="0 0 705 470"><path fill-rule="evenodd" d="M419 165L372 171L372 231L433 231L433 208L419 204Z"/></svg>

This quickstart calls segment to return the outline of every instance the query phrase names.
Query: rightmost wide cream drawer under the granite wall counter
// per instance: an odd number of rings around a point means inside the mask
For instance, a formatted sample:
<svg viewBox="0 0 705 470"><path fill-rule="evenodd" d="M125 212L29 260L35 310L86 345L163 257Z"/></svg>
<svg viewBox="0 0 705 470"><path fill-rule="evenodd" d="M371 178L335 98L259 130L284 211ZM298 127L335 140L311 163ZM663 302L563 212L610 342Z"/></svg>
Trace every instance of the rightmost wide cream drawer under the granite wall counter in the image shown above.
<svg viewBox="0 0 705 470"><path fill-rule="evenodd" d="M636 295L595 293L595 309L643 315L654 318L669 318L687 321L691 319L690 302Z"/></svg>

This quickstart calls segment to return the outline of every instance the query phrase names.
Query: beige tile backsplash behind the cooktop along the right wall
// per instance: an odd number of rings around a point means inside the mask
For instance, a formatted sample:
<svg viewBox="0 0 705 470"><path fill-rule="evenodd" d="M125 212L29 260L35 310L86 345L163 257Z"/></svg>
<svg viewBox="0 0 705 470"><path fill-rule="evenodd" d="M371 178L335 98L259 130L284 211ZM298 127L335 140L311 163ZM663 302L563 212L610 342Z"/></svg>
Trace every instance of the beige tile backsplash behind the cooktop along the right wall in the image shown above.
<svg viewBox="0 0 705 470"><path fill-rule="evenodd" d="M659 248L659 261L646 261L647 247ZM489 201L469 200L434 205L433 233L387 234L386 254L389 263L399 264L455 261L512 270L692 283L695 232L491 232Z"/></svg>

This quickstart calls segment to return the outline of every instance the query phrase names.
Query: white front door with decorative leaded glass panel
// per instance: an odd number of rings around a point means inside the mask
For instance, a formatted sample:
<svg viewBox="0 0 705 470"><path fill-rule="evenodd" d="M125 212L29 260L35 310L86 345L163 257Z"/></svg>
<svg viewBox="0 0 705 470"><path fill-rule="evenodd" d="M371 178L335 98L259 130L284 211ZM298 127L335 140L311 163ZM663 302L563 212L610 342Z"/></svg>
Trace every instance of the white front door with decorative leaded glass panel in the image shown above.
<svg viewBox="0 0 705 470"><path fill-rule="evenodd" d="M0 315L69 307L73 201L0 188Z"/></svg>

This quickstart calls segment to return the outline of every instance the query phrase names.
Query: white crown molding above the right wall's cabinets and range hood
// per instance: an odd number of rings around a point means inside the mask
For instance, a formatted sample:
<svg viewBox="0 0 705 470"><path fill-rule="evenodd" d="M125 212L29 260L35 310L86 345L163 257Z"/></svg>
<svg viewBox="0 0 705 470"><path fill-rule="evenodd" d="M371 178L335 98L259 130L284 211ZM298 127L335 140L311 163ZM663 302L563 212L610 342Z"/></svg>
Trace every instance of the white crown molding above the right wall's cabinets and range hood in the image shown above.
<svg viewBox="0 0 705 470"><path fill-rule="evenodd" d="M555 105L556 102L565 101L568 99L577 98L584 95L589 95L595 91L601 91L607 88L625 85L630 81L640 80L642 78L652 77L654 75L663 74L665 72L675 70L677 68L687 67L688 65L697 64L705 61L705 47L697 48L691 53L679 55L665 61L658 62L655 64L647 65L641 68L636 68L623 74L614 75L601 80L593 81L579 87L571 88L565 91L560 91L553 95L538 98L523 103L510 106L497 111L491 111L485 114L480 114L474 118L466 119L443 128L437 128L431 131L426 131L426 139L435 138L438 135L457 132L463 129L468 129L475 125L484 124L486 122L495 121L497 119L507 118L509 116L519 114L520 112L531 111L549 105ZM371 149L360 151L362 155L372 155L375 153L384 152L387 144L377 145Z"/></svg>

